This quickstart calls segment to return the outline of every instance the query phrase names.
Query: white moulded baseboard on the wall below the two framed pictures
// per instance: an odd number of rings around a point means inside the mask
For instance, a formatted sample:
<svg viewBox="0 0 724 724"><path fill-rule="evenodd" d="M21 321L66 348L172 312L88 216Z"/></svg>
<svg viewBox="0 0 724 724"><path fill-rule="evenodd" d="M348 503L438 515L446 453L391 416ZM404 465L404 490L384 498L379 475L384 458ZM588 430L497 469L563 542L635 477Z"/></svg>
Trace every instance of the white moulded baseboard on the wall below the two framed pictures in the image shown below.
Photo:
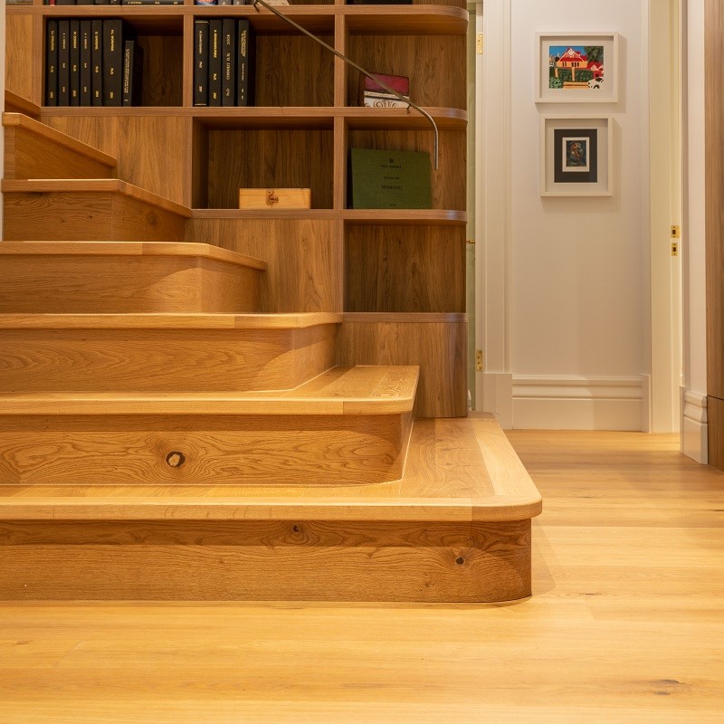
<svg viewBox="0 0 724 724"><path fill-rule="evenodd" d="M648 395L642 377L513 378L513 427L640 431Z"/></svg>

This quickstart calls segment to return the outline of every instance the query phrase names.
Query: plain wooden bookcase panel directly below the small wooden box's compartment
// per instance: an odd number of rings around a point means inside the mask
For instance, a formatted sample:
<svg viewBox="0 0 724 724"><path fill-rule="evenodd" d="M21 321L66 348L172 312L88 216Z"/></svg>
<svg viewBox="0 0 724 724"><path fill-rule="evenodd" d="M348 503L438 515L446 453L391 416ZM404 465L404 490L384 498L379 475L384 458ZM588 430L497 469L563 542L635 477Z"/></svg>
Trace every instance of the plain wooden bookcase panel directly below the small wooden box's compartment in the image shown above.
<svg viewBox="0 0 724 724"><path fill-rule="evenodd" d="M212 243L269 263L262 310L341 311L340 224L323 220L192 219L186 239Z"/></svg>

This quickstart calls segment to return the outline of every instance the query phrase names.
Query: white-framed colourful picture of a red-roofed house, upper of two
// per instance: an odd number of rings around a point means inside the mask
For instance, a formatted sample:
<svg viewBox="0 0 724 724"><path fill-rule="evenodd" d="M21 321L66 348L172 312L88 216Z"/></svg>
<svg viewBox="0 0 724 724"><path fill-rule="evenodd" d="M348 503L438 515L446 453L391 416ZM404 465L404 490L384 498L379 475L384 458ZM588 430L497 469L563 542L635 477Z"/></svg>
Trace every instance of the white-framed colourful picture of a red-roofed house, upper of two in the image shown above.
<svg viewBox="0 0 724 724"><path fill-rule="evenodd" d="M618 33L538 33L536 102L618 100Z"/></svg>

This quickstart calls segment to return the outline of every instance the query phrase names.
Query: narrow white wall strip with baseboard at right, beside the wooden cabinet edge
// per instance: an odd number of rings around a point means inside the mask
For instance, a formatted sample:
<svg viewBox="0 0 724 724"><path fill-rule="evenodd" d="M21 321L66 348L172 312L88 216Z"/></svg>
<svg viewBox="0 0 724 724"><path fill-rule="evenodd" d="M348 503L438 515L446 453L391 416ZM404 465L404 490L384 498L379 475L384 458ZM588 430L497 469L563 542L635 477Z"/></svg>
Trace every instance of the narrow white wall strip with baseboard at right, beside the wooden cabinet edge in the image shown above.
<svg viewBox="0 0 724 724"><path fill-rule="evenodd" d="M704 208L704 0L688 0L684 258L684 405L681 449L707 462L706 236Z"/></svg>

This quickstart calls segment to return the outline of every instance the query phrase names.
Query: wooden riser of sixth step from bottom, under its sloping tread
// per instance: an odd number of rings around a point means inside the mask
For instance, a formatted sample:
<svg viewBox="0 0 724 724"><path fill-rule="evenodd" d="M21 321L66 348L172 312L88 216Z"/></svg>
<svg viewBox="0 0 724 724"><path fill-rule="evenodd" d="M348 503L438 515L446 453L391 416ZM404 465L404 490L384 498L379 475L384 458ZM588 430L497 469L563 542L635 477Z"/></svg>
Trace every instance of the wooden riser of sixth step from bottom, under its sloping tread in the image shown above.
<svg viewBox="0 0 724 724"><path fill-rule="evenodd" d="M24 128L5 128L5 178L111 178L101 164L51 138Z"/></svg>

